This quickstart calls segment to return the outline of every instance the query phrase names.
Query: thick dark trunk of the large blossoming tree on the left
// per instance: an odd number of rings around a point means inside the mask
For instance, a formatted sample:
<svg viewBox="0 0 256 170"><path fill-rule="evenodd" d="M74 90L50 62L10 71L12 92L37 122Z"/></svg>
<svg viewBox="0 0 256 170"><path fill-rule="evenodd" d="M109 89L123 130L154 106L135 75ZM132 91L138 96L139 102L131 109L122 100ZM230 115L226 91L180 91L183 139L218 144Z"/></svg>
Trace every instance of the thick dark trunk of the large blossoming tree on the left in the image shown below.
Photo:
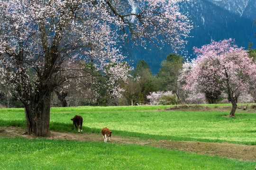
<svg viewBox="0 0 256 170"><path fill-rule="evenodd" d="M25 105L30 131L35 136L49 136L51 93L41 95L38 103Z"/></svg>

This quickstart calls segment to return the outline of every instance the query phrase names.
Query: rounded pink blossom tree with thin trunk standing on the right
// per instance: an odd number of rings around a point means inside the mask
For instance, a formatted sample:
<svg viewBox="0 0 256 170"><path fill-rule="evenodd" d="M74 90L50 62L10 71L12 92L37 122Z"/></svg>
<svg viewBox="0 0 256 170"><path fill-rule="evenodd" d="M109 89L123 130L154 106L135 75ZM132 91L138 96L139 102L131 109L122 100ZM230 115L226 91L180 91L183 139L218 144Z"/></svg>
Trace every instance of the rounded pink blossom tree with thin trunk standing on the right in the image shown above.
<svg viewBox="0 0 256 170"><path fill-rule="evenodd" d="M194 51L197 58L187 76L186 89L227 93L232 103L229 115L235 116L238 96L248 91L250 76L254 71L254 64L247 56L247 51L238 48L232 39L212 41L200 49L194 47ZM194 82L197 82L196 86Z"/></svg>

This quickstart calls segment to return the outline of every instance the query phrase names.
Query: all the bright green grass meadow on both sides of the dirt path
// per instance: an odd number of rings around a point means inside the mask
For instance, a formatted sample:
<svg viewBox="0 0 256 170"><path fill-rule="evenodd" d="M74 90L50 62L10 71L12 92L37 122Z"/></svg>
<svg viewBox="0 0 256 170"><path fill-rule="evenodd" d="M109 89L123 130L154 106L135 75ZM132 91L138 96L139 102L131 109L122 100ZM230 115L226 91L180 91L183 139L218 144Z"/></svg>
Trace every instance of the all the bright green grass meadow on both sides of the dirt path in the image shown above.
<svg viewBox="0 0 256 170"><path fill-rule="evenodd" d="M256 145L256 112L228 118L229 112L222 111L157 110L165 107L170 106L52 108L50 130L77 133L70 119L78 114L83 118L82 133L100 134L101 128L109 127L112 135L124 137ZM0 109L0 127L25 128L24 117L24 109ZM0 167L6 170L253 170L256 165L135 144L44 138L3 137L0 151Z"/></svg>

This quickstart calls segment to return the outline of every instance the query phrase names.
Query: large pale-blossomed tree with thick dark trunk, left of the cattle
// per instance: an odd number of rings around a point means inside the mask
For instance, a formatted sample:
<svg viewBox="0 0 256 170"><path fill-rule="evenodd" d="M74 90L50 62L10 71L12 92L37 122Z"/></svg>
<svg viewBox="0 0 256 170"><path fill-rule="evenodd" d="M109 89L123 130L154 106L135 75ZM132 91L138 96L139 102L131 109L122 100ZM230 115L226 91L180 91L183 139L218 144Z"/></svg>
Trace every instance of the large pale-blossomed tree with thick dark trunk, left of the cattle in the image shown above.
<svg viewBox="0 0 256 170"><path fill-rule="evenodd" d="M123 89L113 82L127 75L121 43L183 46L192 26L179 12L181 1L0 0L0 84L17 91L29 131L50 134L51 94L82 76L73 70L77 61L108 70L110 92L118 95Z"/></svg>

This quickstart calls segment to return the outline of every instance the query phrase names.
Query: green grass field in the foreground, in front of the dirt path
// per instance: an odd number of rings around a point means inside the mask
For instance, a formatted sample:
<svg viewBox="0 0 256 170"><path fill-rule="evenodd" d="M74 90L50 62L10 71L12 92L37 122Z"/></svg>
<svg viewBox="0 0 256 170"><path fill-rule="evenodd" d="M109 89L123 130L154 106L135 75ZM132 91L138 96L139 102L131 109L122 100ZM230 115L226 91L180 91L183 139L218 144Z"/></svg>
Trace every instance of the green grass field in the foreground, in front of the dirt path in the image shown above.
<svg viewBox="0 0 256 170"><path fill-rule="evenodd" d="M237 161L139 145L0 138L5 170L253 170Z"/></svg>

